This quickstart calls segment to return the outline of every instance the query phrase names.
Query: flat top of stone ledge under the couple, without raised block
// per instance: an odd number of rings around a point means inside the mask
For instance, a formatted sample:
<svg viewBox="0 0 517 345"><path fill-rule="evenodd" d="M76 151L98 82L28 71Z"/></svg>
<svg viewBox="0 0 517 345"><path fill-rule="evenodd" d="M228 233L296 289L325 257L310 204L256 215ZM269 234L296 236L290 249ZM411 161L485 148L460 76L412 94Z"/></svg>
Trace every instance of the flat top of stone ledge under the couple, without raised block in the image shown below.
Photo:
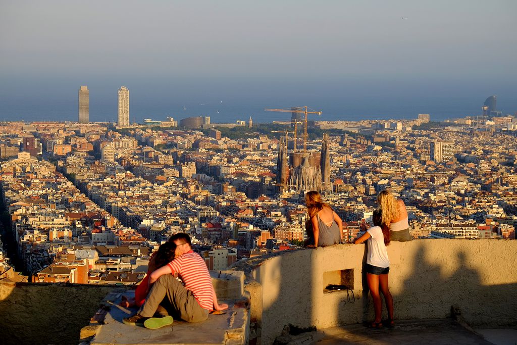
<svg viewBox="0 0 517 345"><path fill-rule="evenodd" d="M228 301L232 302L232 301ZM116 304L111 307L104 325L90 342L92 345L108 344L245 344L249 329L249 309L231 306L225 314L211 314L207 321L188 323L174 320L168 327L146 329L129 326L122 319L131 316L136 309L122 308Z"/></svg>

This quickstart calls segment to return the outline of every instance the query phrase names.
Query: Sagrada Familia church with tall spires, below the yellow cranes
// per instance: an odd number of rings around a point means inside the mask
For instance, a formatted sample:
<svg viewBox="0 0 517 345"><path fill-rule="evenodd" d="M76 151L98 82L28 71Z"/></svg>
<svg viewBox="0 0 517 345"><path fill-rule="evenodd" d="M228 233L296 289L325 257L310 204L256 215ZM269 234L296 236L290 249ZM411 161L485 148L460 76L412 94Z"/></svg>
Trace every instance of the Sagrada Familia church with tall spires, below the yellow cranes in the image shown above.
<svg viewBox="0 0 517 345"><path fill-rule="evenodd" d="M330 155L328 134L323 134L321 154L312 152L287 152L287 142L280 139L277 160L277 186L279 191L310 190L332 191L330 183Z"/></svg>

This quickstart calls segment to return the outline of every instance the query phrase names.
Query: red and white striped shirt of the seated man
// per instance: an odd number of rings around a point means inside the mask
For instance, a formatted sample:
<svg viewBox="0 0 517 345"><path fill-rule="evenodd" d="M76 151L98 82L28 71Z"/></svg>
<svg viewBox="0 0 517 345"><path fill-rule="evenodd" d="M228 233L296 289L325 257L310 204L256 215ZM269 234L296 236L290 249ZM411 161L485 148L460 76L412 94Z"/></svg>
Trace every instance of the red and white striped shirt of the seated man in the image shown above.
<svg viewBox="0 0 517 345"><path fill-rule="evenodd" d="M199 254L189 251L168 263L172 274L177 273L187 290L192 291L203 309L214 310L214 286L205 261Z"/></svg>

